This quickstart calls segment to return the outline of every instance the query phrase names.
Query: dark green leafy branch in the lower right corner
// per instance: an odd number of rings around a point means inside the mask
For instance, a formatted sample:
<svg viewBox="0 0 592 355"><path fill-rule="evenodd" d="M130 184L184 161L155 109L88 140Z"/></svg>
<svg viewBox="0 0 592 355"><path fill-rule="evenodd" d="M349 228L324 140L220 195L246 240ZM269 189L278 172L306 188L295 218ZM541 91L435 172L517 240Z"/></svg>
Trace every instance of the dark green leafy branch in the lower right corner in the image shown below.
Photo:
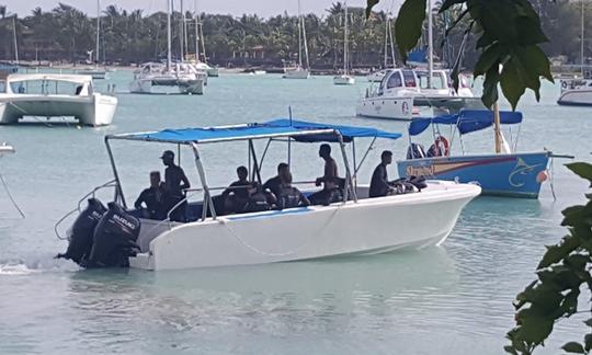
<svg viewBox="0 0 592 355"><path fill-rule="evenodd" d="M592 164L577 162L567 164L576 174L588 180L592 187ZM511 341L504 350L510 354L532 354L544 345L555 323L576 313L592 313L578 309L581 289L592 291L592 193L585 195L588 204L563 209L561 226L569 233L556 245L548 245L537 266L537 279L516 296L516 327L508 332ZM588 299L587 299L588 300ZM592 350L592 318L583 343L569 342L562 346L567 353L589 354Z"/></svg>

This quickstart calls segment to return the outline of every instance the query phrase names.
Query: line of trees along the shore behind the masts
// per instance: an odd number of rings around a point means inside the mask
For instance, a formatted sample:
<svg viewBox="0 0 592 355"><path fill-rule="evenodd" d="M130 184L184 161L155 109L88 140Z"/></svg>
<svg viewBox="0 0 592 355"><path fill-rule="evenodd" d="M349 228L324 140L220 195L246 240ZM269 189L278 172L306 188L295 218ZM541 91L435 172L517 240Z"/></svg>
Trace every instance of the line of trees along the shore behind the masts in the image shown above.
<svg viewBox="0 0 592 355"><path fill-rule="evenodd" d="M549 56L565 55L568 61L579 62L580 4L568 0L537 1L542 25L549 37L544 50ZM437 3L435 8L439 8ZM366 19L364 8L349 7L350 56L354 68L382 67L384 64L386 12L374 12ZM459 14L462 9L457 9ZM181 54L182 13L172 14L172 55ZM298 18L287 13L263 19L257 14L232 16L200 13L208 61L220 66L282 66L294 61L298 54ZM185 13L187 53L195 53L195 15ZM145 14L143 10L126 11L109 5L101 13L100 61L107 64L139 64L167 57L167 14ZM314 68L339 68L343 53L343 3L337 2L319 16L304 15L310 65ZM391 19L392 20L392 19ZM455 20L455 12L434 13L435 56L449 65L459 55L465 33L446 28ZM395 31L394 21L389 21ZM587 21L585 33L592 34L592 21ZM52 60L81 62L95 48L96 18L64 3L44 11L32 10L26 16L10 13L0 5L0 60L14 59L14 31L21 60ZM426 31L426 30L424 30ZM426 36L424 36L426 37ZM591 35L592 37L592 35ZM444 41L446 38L446 41ZM464 62L475 64L474 36L465 39ZM584 42L590 53L591 42ZM386 48L390 53L390 45ZM394 50L397 53L397 50ZM94 58L94 55L93 55ZM399 64L399 59L395 59ZM391 64L392 59L389 59Z"/></svg>

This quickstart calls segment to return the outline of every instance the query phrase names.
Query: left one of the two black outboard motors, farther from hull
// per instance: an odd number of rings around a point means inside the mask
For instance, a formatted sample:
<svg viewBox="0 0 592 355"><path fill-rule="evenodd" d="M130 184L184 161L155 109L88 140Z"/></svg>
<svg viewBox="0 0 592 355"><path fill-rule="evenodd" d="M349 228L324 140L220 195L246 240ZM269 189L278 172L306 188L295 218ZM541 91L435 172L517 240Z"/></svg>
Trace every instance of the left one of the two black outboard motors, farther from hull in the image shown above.
<svg viewBox="0 0 592 355"><path fill-rule="evenodd" d="M106 208L94 197L89 198L88 202L87 208L80 213L72 227L68 230L70 243L66 253L58 254L56 257L69 259L80 264L90 256L94 228L106 213Z"/></svg>

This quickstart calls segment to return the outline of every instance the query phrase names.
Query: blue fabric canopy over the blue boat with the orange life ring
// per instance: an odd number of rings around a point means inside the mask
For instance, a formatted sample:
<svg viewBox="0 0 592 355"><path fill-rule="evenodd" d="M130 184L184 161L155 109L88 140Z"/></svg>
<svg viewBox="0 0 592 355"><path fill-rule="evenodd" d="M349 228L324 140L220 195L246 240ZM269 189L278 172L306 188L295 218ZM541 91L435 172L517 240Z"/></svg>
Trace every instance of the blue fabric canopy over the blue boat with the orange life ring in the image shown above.
<svg viewBox="0 0 592 355"><path fill-rule="evenodd" d="M522 122L522 113L512 111L500 112L500 123L502 125L513 125ZM442 115L430 118L413 118L409 125L409 134L417 136L424 131L430 125L454 125L464 135L476 130L481 130L493 125L493 112L489 110L464 110L456 114Z"/></svg>

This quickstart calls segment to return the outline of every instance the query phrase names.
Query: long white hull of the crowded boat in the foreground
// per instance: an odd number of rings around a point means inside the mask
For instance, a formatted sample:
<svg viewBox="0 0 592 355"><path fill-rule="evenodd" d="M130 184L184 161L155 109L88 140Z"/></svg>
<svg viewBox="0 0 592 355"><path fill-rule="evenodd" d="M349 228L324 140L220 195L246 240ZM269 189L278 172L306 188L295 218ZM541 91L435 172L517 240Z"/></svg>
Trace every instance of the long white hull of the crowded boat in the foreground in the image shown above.
<svg viewBox="0 0 592 355"><path fill-rule="evenodd" d="M218 217L174 224L170 229L167 224L143 225L140 244L151 241L146 252L129 262L146 270L194 268L436 245L480 191L477 185L433 182L421 193L357 203Z"/></svg>

